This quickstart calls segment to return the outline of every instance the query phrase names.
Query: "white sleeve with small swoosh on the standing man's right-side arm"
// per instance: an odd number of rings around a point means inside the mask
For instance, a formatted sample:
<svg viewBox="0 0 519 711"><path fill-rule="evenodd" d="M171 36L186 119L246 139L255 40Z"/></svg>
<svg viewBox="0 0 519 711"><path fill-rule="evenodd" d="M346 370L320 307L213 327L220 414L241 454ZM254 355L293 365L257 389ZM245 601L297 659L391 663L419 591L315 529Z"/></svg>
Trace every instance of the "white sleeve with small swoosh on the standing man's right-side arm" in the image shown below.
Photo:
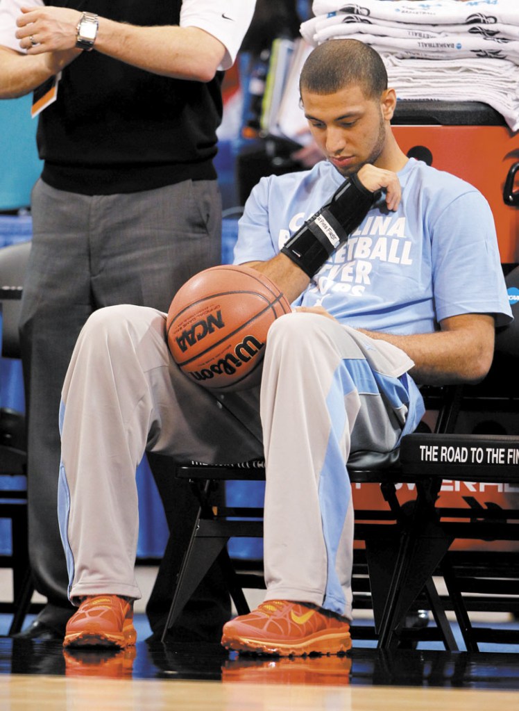
<svg viewBox="0 0 519 711"><path fill-rule="evenodd" d="M183 0L180 26L198 27L222 42L226 53L220 69L236 59L254 14L256 0Z"/></svg>

